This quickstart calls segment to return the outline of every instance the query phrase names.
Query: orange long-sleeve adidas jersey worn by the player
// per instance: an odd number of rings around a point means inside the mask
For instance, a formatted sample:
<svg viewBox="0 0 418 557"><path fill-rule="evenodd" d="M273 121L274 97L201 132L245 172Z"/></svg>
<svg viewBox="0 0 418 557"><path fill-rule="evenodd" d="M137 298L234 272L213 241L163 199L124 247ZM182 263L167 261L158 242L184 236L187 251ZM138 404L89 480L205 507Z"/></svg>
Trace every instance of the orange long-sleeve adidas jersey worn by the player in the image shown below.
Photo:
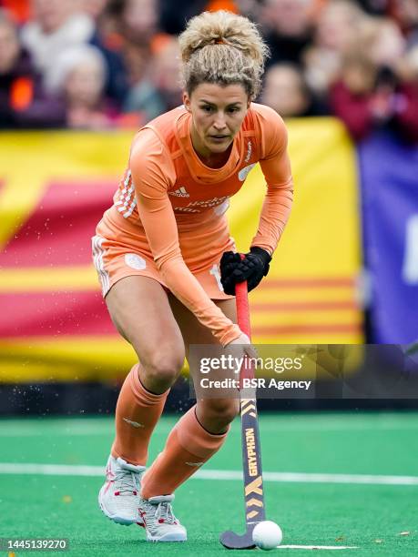
<svg viewBox="0 0 418 557"><path fill-rule="evenodd" d="M211 230L216 234L208 234L206 254L214 241L226 245L229 197L240 190L250 169L260 162L267 193L251 246L272 253L291 211L287 131L272 109L252 103L234 138L228 162L209 168L192 146L190 126L189 112L179 106L138 132L110 216L117 218L119 226L135 227L138 238L146 236L168 289L226 345L240 336L240 329L195 279L193 270L199 267L199 255L188 248L192 242L185 242L180 249L179 238Z"/></svg>

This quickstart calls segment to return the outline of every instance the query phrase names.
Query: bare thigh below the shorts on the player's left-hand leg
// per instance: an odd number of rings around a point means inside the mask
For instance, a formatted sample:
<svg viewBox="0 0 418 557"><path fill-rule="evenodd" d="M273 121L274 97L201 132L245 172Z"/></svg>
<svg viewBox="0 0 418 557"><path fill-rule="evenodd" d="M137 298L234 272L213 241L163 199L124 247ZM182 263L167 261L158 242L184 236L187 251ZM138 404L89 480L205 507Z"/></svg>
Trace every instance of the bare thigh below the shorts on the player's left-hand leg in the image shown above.
<svg viewBox="0 0 418 557"><path fill-rule="evenodd" d="M120 279L106 297L107 309L119 333L145 367L182 367L184 342L157 280L131 276Z"/></svg>

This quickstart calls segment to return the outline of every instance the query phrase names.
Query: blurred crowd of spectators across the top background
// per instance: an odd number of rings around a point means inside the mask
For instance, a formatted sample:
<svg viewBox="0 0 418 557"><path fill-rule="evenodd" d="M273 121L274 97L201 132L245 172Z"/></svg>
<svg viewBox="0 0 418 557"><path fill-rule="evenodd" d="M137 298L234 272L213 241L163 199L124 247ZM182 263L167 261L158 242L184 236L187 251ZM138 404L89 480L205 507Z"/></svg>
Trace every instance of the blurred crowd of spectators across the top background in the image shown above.
<svg viewBox="0 0 418 557"><path fill-rule="evenodd" d="M140 127L181 104L177 36L229 9L271 51L260 102L418 142L418 0L0 0L0 128Z"/></svg>

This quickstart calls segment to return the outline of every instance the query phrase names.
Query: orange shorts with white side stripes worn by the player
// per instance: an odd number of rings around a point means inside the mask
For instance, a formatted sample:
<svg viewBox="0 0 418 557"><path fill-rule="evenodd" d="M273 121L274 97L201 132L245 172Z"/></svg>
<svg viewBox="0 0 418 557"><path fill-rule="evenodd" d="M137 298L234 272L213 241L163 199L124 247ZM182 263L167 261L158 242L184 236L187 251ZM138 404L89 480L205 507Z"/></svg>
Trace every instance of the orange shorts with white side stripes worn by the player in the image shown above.
<svg viewBox="0 0 418 557"><path fill-rule="evenodd" d="M143 229L133 227L125 219L121 221L121 218L109 209L97 225L96 236L92 238L93 261L103 297L106 297L118 280L133 275L155 279L169 291L152 257L145 233L141 234ZM228 232L228 228L226 229ZM219 273L222 253L235 251L235 243L229 237L229 232L225 235L224 229L203 225L199 227L199 233L196 230L179 233L179 244L182 253L183 248L190 252L192 264L189 264L187 258L184 258L185 263L209 298L233 298L223 291ZM199 254L199 258L196 254Z"/></svg>

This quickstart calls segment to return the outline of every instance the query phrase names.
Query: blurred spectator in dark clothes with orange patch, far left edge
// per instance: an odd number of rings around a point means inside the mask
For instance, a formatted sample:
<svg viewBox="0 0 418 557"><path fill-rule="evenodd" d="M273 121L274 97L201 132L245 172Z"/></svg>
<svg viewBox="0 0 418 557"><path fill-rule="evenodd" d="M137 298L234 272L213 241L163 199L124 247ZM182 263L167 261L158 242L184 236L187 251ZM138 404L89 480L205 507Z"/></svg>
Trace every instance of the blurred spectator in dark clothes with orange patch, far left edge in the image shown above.
<svg viewBox="0 0 418 557"><path fill-rule="evenodd" d="M17 28L0 10L0 127L61 127L65 109L46 96L30 56L19 44Z"/></svg>

